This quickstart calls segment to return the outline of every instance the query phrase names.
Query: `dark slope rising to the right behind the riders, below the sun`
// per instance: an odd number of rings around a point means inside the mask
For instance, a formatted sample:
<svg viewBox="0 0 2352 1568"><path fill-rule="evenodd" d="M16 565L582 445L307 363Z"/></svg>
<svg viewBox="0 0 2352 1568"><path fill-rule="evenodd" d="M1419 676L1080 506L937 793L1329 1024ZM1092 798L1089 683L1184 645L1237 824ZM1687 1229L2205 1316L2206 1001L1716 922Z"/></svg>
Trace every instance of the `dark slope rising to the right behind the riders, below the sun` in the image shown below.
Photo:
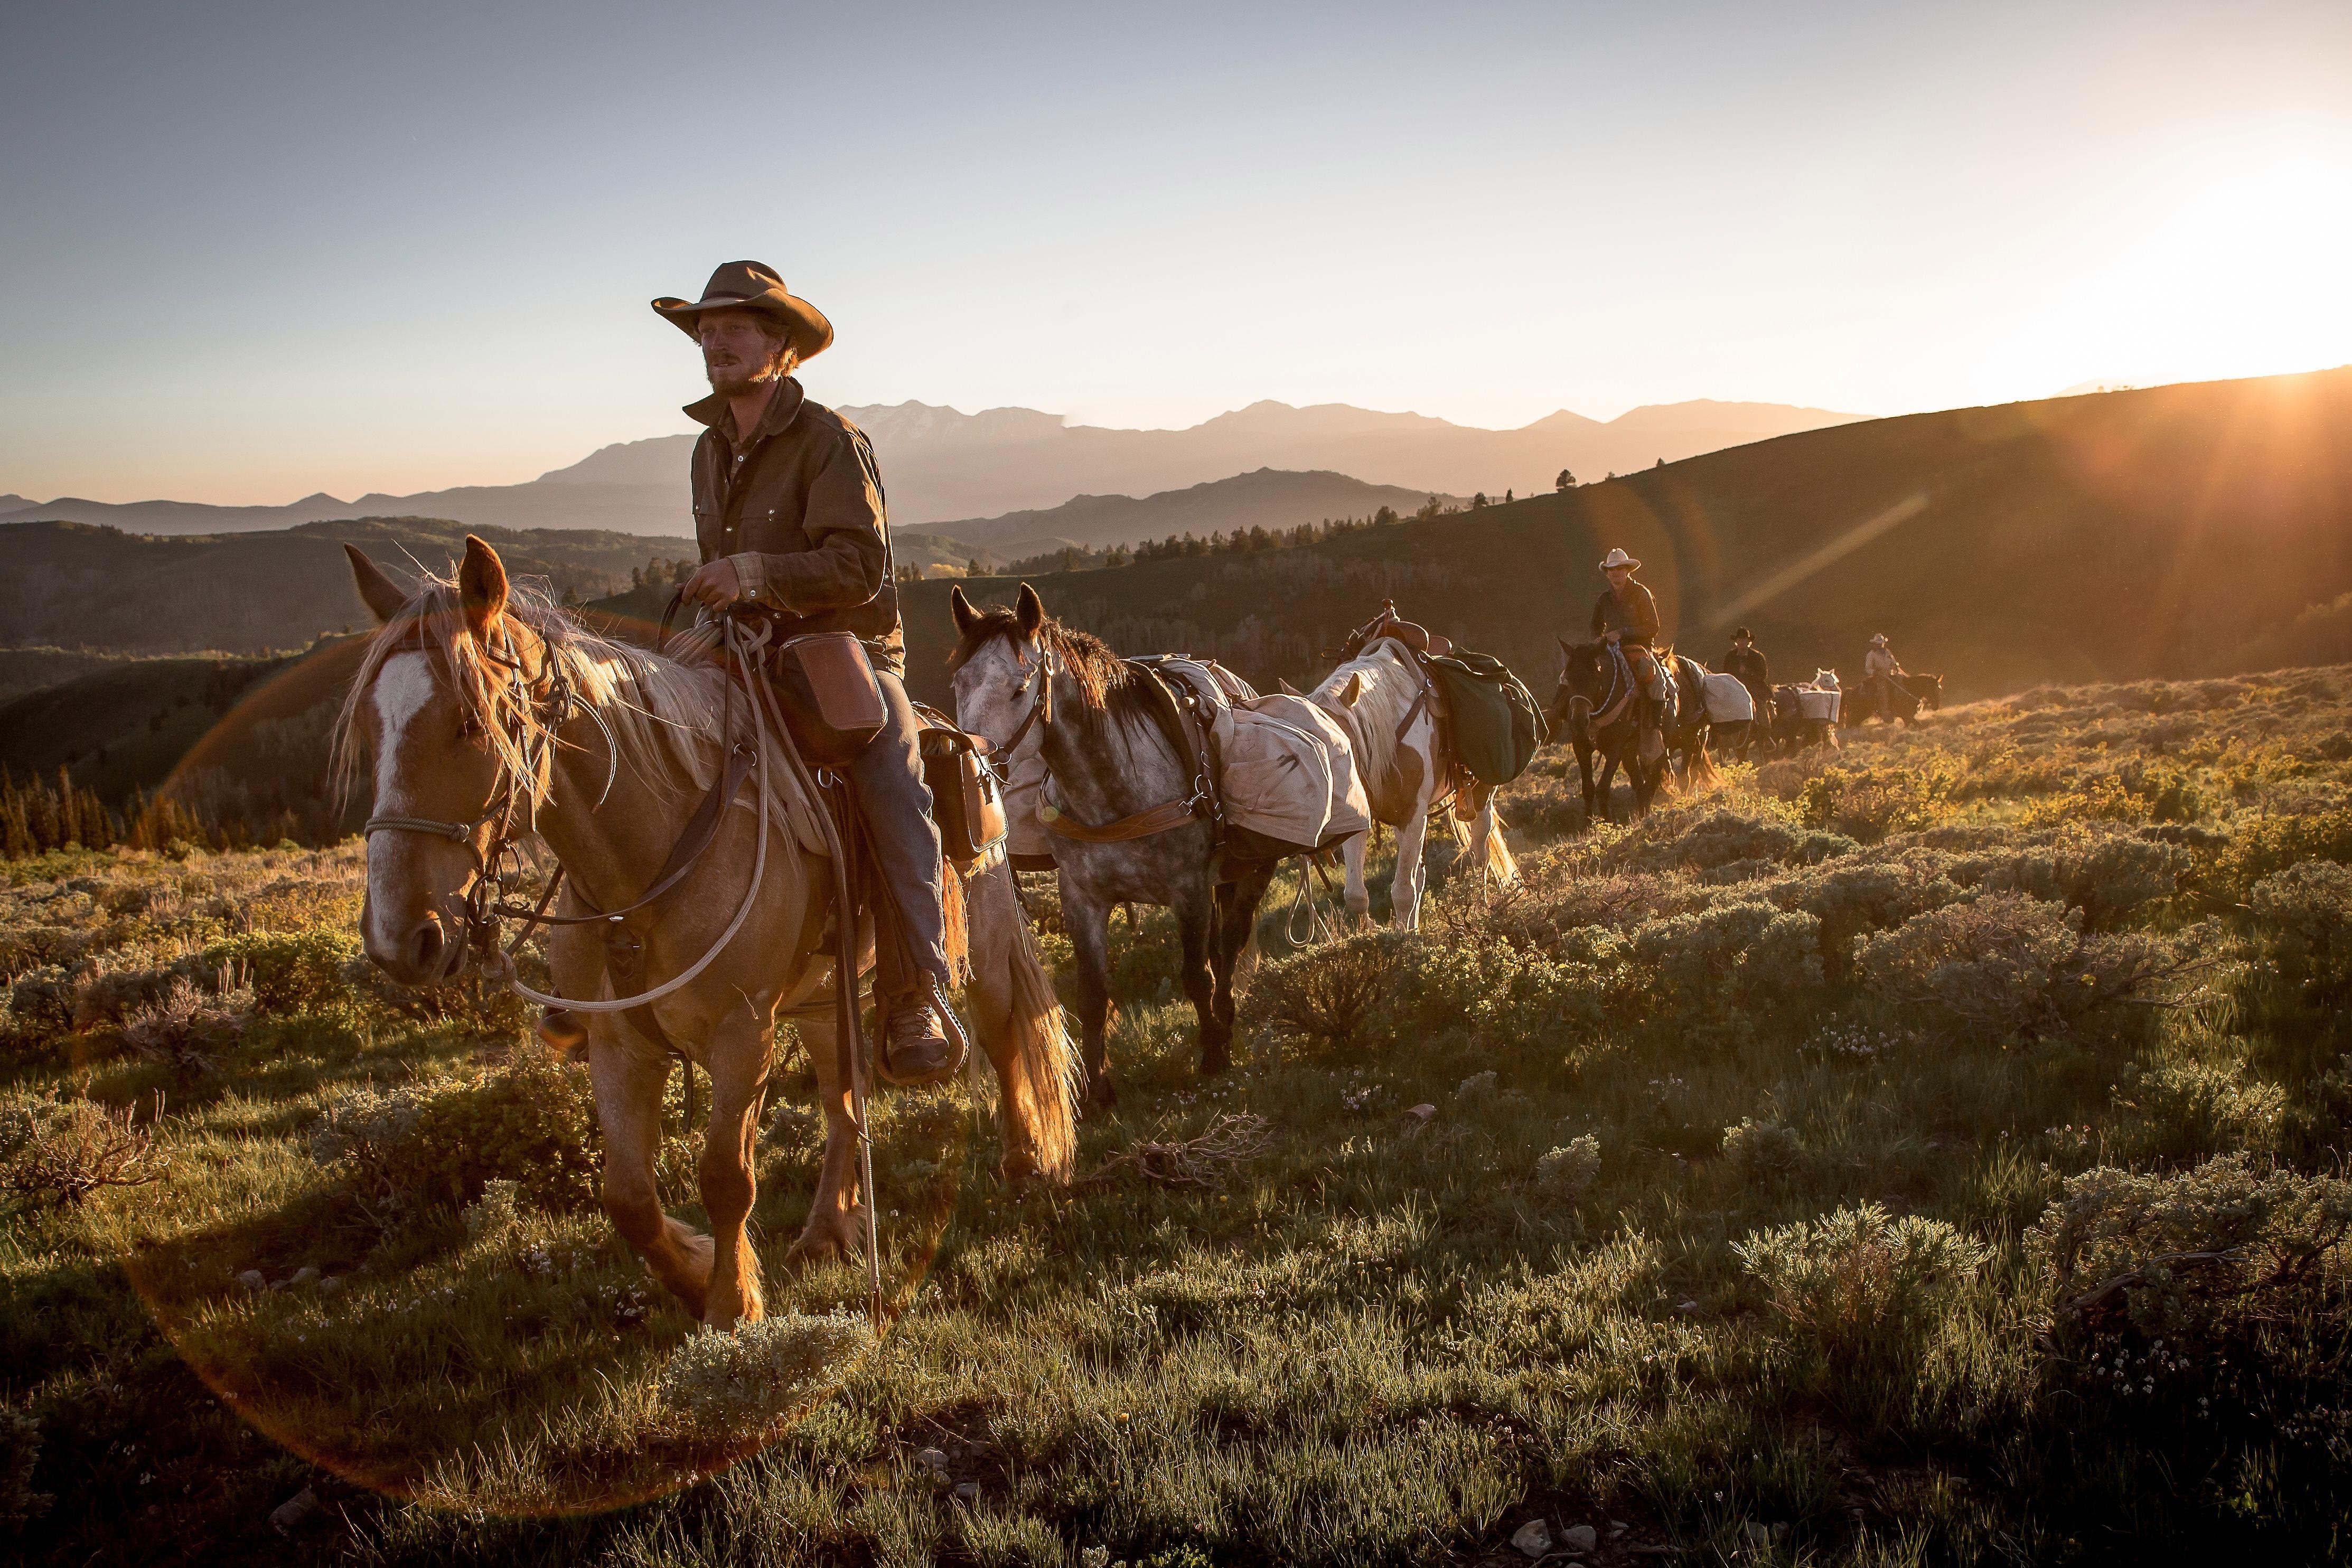
<svg viewBox="0 0 2352 1568"><path fill-rule="evenodd" d="M1858 672L1884 630L1962 696L2296 656L2281 632L2352 590L2352 369L1879 418L1303 550L1037 588L1122 651L1216 654L1263 684L1319 675L1317 649L1395 595L1548 686L1606 545L1646 562L1668 628L1708 661L1736 621L1804 675ZM931 701L946 595L906 592ZM2305 630L2303 656L2326 656L2343 611Z"/></svg>

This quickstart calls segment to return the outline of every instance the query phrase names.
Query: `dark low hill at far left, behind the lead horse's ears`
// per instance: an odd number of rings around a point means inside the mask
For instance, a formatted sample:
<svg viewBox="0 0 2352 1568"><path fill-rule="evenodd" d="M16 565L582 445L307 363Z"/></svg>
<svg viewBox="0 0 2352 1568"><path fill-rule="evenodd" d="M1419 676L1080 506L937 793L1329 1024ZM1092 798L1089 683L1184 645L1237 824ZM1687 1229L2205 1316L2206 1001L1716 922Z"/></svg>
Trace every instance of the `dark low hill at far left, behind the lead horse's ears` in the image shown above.
<svg viewBox="0 0 2352 1568"><path fill-rule="evenodd" d="M477 529L524 576L581 597L614 592L654 555L691 541L633 534ZM343 541L400 574L442 569L466 527L437 517L313 522L275 534L148 536L73 522L0 527L0 644L129 654L308 646L367 623Z"/></svg>

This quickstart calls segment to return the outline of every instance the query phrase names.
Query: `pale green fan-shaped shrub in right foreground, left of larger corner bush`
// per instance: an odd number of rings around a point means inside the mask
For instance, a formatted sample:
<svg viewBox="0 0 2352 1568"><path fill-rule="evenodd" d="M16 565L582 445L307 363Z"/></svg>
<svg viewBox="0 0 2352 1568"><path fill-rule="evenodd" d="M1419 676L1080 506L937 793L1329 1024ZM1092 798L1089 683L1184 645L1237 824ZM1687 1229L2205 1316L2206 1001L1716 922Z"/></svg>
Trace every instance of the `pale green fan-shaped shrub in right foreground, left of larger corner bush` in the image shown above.
<svg viewBox="0 0 2352 1568"><path fill-rule="evenodd" d="M1877 1204L1752 1232L1731 1248L1788 1331L1825 1361L1879 1361L1992 1255L1943 1220Z"/></svg>

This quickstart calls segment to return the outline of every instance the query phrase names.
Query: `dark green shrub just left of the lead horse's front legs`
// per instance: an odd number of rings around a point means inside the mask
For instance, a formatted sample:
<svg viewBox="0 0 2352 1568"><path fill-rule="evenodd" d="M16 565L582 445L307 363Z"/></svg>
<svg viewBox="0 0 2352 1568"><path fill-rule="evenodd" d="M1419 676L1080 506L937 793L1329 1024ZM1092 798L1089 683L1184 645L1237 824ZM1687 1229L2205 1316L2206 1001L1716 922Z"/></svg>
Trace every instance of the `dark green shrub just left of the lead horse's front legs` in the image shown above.
<svg viewBox="0 0 2352 1568"><path fill-rule="evenodd" d="M517 1051L496 1067L348 1095L313 1133L310 1157L341 1171L386 1222L466 1206L494 1180L541 1208L588 1208L595 1093L583 1070Z"/></svg>

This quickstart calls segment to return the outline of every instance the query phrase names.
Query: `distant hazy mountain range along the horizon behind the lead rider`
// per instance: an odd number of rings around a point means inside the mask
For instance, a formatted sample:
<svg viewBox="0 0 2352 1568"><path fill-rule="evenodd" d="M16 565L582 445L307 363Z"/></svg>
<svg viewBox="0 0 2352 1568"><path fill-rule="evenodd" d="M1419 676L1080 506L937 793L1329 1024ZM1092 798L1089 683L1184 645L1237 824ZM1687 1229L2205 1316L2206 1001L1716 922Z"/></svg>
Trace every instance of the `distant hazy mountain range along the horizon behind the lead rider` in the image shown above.
<svg viewBox="0 0 2352 1568"><path fill-rule="evenodd" d="M960 414L922 402L844 407L875 442L901 527L1056 508L1073 496L1148 496L1258 468L1336 470L1418 494L1519 494L1672 463L1719 447L1849 423L1853 414L1769 402L1677 402L1606 423L1548 414L1519 430L1482 430L1425 414L1381 414L1343 402L1294 409L1254 402L1185 430L1073 425L1037 409ZM691 534L691 435L602 447L527 484L470 484L358 501L303 496L289 505L193 501L28 501L0 496L0 522L94 522L129 534L242 534L346 517L452 517L499 529Z"/></svg>

